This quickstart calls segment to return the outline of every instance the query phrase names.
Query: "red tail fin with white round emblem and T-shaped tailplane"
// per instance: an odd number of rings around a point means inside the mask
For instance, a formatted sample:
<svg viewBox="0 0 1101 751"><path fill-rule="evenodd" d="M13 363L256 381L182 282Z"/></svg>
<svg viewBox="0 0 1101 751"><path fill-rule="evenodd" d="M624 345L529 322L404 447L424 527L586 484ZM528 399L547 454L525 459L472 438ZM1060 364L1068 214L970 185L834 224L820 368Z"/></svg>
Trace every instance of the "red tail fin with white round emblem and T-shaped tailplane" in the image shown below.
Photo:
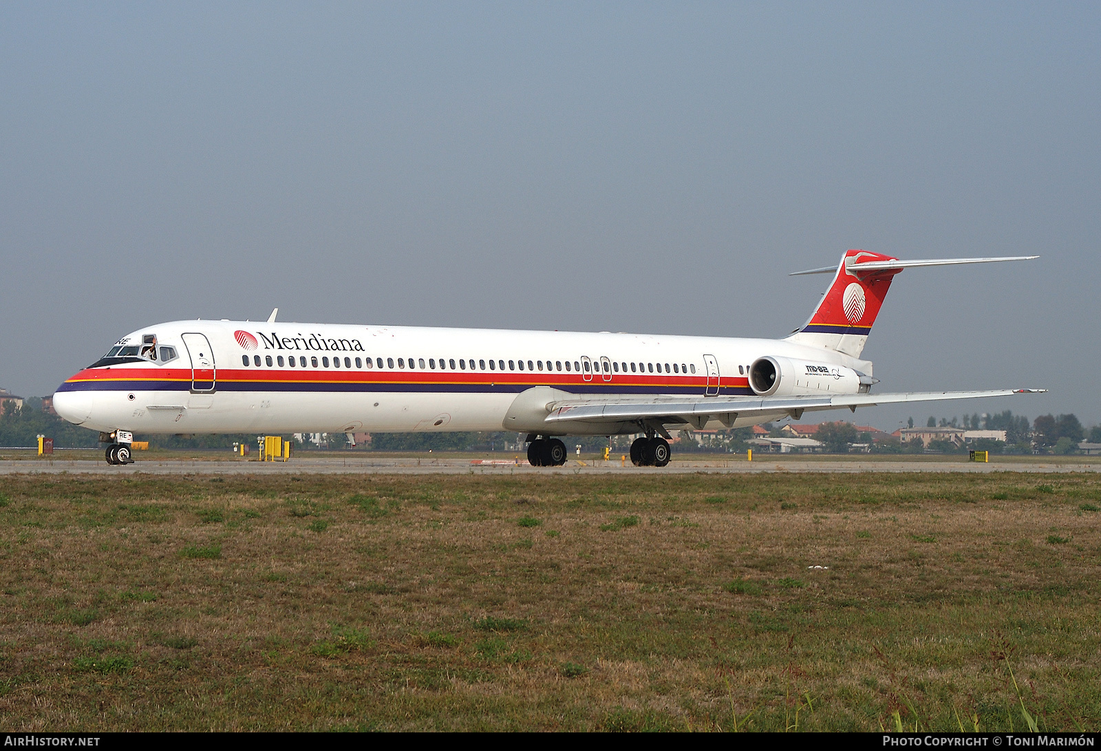
<svg viewBox="0 0 1101 751"><path fill-rule="evenodd" d="M803 328L788 337L789 341L833 349L844 355L860 357L880 314L883 298L891 289L894 275L914 266L944 266L963 263L991 263L994 261L1027 261L1038 255L1012 258L949 258L900 261L892 255L866 250L850 250L841 257L833 282L822 295L818 307ZM832 268L811 269L793 274L824 274Z"/></svg>

